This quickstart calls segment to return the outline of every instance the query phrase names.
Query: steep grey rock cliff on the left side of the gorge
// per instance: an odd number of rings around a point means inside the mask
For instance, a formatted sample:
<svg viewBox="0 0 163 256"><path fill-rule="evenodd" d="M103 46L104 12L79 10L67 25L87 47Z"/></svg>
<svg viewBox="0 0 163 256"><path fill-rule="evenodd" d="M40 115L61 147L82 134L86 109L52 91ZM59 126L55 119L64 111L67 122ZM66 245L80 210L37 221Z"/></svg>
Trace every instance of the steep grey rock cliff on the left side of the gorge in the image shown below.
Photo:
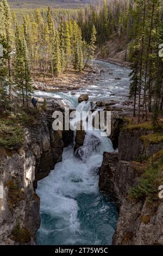
<svg viewBox="0 0 163 256"><path fill-rule="evenodd" d="M64 142L72 136L53 131L51 113L41 114L39 124L25 129L22 148L0 148L0 244L35 245L40 227L37 180L47 176L62 159ZM64 142L63 142L64 140Z"/></svg>

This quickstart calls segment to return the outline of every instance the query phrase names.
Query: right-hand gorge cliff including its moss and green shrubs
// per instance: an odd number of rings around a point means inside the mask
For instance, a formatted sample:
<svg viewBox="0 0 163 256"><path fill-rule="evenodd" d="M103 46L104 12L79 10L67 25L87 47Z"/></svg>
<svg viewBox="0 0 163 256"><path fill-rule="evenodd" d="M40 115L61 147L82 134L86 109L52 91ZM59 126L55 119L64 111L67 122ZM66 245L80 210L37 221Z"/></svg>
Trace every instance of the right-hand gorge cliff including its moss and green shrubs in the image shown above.
<svg viewBox="0 0 163 256"><path fill-rule="evenodd" d="M163 244L163 142L155 136L149 124L127 126L118 136L118 153L104 153L99 188L120 210L113 245Z"/></svg>

